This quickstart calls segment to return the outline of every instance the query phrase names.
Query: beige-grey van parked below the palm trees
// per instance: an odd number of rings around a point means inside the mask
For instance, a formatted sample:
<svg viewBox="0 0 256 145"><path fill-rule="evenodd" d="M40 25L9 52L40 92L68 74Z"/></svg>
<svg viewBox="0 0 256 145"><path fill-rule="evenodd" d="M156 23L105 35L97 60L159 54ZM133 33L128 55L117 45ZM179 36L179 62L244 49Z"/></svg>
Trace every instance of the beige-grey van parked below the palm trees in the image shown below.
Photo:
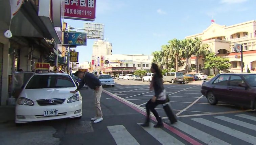
<svg viewBox="0 0 256 145"><path fill-rule="evenodd" d="M163 82L179 82L182 83L184 81L183 73L181 72L168 72L163 75Z"/></svg>

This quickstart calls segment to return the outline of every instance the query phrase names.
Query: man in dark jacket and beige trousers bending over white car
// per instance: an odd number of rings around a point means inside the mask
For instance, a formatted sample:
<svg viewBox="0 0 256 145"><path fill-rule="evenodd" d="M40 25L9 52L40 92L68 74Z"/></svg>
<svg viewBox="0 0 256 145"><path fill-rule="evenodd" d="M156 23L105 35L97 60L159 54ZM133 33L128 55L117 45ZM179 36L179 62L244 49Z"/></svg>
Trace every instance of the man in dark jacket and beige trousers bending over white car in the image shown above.
<svg viewBox="0 0 256 145"><path fill-rule="evenodd" d="M102 118L102 111L100 107L100 97L102 93L102 86L99 81L99 79L92 73L89 72L82 72L82 71L76 71L74 74L76 77L82 79L79 86L75 91L70 91L70 93L76 93L79 91L79 89L83 88L86 84L89 88L94 90L94 99L95 99L95 108L96 108L96 116L91 118L91 121L94 121L94 123L98 123L103 120Z"/></svg>

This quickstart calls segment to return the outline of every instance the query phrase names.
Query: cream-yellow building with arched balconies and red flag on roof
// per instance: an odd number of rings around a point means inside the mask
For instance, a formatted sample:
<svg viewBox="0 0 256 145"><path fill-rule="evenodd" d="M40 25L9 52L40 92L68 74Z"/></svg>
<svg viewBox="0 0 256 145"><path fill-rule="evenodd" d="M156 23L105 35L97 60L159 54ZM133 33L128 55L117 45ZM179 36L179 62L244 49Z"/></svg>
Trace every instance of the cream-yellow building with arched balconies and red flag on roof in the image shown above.
<svg viewBox="0 0 256 145"><path fill-rule="evenodd" d="M212 24L202 33L187 36L186 39L195 37L201 38L203 44L209 45L210 52L217 56L229 58L231 72L241 72L240 53L234 51L234 43L243 45L244 68L256 71L256 21L248 21L231 26ZM195 65L195 57L191 57L189 65ZM202 57L199 59L199 68L204 66ZM244 72L246 71L244 69Z"/></svg>

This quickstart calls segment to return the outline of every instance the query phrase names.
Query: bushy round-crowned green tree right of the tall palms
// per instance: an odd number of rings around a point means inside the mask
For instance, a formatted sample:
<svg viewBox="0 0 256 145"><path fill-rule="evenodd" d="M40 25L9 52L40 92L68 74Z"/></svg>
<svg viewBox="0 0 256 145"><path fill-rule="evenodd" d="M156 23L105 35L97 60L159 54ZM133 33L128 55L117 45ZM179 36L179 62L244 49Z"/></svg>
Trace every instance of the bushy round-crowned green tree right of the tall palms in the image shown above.
<svg viewBox="0 0 256 145"><path fill-rule="evenodd" d="M215 53L210 53L205 57L205 68L207 69L213 69L213 73L215 75L215 68L219 71L226 71L229 69L231 64L229 63L228 58L222 58L219 56L216 56Z"/></svg>

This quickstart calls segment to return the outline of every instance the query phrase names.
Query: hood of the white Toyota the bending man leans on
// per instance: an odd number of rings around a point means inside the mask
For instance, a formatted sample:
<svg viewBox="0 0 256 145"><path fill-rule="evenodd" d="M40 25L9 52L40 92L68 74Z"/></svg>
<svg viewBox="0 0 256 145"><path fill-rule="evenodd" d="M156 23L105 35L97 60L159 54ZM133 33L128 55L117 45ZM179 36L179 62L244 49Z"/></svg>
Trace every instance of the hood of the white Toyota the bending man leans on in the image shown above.
<svg viewBox="0 0 256 145"><path fill-rule="evenodd" d="M68 99L74 94L70 91L75 91L76 88L45 88L45 89L24 89L20 97L28 98L32 101L40 99Z"/></svg>

